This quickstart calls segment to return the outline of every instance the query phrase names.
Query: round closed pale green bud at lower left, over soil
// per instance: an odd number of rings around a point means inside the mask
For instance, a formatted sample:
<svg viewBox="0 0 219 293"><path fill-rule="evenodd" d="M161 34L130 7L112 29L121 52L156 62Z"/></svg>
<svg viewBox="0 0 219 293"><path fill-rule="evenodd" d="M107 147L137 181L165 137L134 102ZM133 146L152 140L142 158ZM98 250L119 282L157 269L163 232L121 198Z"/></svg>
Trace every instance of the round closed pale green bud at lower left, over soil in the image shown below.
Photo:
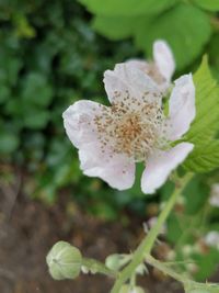
<svg viewBox="0 0 219 293"><path fill-rule="evenodd" d="M82 256L78 248L58 241L46 257L49 273L55 280L74 279L80 274Z"/></svg>

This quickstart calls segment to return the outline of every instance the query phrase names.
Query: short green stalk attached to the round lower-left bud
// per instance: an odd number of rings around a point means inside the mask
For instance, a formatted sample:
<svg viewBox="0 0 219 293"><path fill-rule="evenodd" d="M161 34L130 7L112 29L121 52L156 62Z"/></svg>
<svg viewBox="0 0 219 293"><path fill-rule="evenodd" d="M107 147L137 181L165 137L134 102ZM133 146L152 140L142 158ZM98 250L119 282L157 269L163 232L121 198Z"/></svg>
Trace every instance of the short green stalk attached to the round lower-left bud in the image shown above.
<svg viewBox="0 0 219 293"><path fill-rule="evenodd" d="M85 269L88 269L88 271L91 273L102 273L113 278L115 278L117 274L117 272L110 270L104 263L95 259L83 258L82 266L85 267Z"/></svg>

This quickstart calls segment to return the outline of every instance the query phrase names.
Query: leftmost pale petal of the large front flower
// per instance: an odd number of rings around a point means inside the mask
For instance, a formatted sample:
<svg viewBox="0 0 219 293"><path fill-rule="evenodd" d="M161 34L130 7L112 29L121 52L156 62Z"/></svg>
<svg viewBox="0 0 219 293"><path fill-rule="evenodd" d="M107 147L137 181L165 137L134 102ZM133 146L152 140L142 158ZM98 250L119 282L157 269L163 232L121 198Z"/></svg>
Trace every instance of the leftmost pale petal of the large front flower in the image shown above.
<svg viewBox="0 0 219 293"><path fill-rule="evenodd" d="M64 125L69 139L76 147L96 140L93 119L104 106L92 101L78 101L62 114Z"/></svg>

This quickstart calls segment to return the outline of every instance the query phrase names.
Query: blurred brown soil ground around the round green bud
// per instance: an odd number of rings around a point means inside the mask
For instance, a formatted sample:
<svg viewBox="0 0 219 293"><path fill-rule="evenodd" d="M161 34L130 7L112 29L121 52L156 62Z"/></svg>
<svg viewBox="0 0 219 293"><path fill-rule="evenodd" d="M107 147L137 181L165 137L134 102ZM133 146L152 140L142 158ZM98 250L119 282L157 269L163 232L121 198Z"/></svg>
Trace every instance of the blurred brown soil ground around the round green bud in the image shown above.
<svg viewBox="0 0 219 293"><path fill-rule="evenodd" d="M142 237L142 226L105 223L81 211L68 195L53 206L22 193L21 178L0 187L0 293L107 293L112 280L81 275L74 281L54 281L45 257L57 240L68 240L87 257L104 260L127 252ZM136 229L139 226L139 229ZM182 293L175 282L150 273L141 281L150 293Z"/></svg>

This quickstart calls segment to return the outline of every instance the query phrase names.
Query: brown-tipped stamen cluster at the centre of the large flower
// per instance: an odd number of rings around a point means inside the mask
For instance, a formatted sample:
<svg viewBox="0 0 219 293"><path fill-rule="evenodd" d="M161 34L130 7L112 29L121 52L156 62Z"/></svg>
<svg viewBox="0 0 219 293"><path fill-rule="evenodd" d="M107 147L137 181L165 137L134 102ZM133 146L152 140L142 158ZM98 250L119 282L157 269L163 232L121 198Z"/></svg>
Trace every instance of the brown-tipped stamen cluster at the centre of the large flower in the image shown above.
<svg viewBox="0 0 219 293"><path fill-rule="evenodd" d="M128 97L124 102L103 108L94 125L102 151L106 146L113 154L126 154L135 161L146 160L159 144L163 112L160 101L147 102Z"/></svg>

